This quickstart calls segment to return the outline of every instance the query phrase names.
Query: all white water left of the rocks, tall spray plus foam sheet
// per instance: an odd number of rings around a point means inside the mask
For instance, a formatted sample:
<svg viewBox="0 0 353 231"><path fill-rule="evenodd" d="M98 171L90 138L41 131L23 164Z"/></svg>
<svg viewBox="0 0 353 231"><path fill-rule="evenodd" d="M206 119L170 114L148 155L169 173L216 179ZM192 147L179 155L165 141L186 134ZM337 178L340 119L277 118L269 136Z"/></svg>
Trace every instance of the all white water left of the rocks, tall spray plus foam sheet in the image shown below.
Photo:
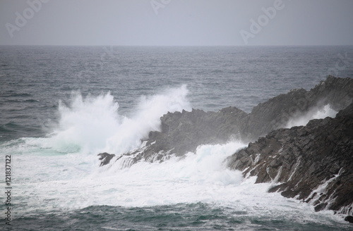
<svg viewBox="0 0 353 231"><path fill-rule="evenodd" d="M76 95L70 106L59 107L61 119L52 137L1 144L0 151L13 156L16 216L96 205L203 202L249 216L338 220L330 211L315 213L309 204L268 193L270 184L254 184L255 177L244 179L241 172L229 170L225 158L246 146L238 141L198 146L195 154L163 163L99 167L98 151L119 154L139 146L150 130L160 129L160 116L189 107L186 94L181 87L145 97L131 118L119 117L119 106L109 93L87 99Z"/></svg>

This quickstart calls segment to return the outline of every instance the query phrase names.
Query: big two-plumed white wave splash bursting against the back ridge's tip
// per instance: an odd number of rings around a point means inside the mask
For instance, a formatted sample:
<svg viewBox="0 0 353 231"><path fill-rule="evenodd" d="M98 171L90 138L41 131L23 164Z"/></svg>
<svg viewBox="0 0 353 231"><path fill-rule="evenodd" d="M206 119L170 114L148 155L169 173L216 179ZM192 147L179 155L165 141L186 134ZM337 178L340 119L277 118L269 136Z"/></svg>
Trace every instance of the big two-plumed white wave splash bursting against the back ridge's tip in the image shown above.
<svg viewBox="0 0 353 231"><path fill-rule="evenodd" d="M190 110L183 85L154 96L141 97L135 113L119 115L119 104L108 92L85 99L76 92L71 104L59 103L59 127L45 146L64 153L123 154L140 145L148 132L160 130L160 117L168 111Z"/></svg>

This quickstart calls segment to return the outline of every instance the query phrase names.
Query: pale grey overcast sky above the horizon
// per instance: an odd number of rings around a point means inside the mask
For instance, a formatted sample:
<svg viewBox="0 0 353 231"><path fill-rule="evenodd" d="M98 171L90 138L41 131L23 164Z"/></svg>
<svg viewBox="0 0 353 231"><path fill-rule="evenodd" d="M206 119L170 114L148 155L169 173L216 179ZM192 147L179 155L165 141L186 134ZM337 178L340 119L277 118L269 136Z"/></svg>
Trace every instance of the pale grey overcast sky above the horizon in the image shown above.
<svg viewBox="0 0 353 231"><path fill-rule="evenodd" d="M353 45L352 0L0 0L0 45Z"/></svg>

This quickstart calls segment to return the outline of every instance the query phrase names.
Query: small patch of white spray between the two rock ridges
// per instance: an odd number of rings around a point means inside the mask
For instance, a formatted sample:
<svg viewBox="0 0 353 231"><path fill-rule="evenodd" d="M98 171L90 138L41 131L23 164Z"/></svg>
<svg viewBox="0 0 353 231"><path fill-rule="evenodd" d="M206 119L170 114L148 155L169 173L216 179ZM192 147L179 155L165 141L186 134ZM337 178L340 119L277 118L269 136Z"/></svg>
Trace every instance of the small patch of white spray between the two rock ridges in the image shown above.
<svg viewBox="0 0 353 231"><path fill-rule="evenodd" d="M330 104L323 106L322 108L314 108L302 116L289 119L286 128L294 127L294 126L305 126L309 123L310 120L313 119L323 119L326 117L335 118L337 111L331 108Z"/></svg>

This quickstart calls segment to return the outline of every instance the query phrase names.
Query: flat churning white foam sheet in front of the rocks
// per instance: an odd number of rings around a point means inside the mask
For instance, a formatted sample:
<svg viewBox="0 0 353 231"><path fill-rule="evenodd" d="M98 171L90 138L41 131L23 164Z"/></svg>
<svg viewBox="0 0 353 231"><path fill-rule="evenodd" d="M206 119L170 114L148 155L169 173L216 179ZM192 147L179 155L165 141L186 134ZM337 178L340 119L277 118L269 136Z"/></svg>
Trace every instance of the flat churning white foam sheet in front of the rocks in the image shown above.
<svg viewBox="0 0 353 231"><path fill-rule="evenodd" d="M339 221L330 211L316 213L313 206L278 193L268 193L269 183L254 184L240 171L225 167L225 158L244 144L199 146L185 158L163 163L141 161L130 168L102 170L97 158L87 154L43 156L37 150L16 156L13 187L21 209L30 215L71 211L88 206L161 206L207 203L258 218L288 218L317 223L318 217ZM23 146L23 149L35 149ZM35 166L35 168L34 168ZM21 214L18 214L18 216ZM229 215L233 216L233 215Z"/></svg>

